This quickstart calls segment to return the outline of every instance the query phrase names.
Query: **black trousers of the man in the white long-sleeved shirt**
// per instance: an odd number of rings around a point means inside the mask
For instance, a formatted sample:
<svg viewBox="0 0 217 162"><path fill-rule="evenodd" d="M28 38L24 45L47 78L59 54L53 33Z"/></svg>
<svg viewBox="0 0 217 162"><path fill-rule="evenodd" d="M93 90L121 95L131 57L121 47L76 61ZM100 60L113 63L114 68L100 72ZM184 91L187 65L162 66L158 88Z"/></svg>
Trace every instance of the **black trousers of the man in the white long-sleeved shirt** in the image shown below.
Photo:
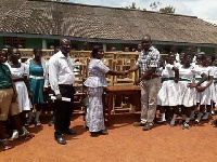
<svg viewBox="0 0 217 162"><path fill-rule="evenodd" d="M71 116L74 110L74 93L75 89L72 85L60 84L59 85L62 97L71 98L71 102L54 102L54 130L55 135L60 135L66 132L71 125Z"/></svg>

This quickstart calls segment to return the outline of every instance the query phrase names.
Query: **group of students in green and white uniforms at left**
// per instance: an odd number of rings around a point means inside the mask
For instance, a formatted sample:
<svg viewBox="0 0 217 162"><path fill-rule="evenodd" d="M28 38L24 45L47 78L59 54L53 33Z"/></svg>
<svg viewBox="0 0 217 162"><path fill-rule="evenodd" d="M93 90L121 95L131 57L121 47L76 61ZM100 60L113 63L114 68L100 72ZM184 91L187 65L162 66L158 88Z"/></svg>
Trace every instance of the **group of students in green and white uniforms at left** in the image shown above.
<svg viewBox="0 0 217 162"><path fill-rule="evenodd" d="M48 96L48 70L41 59L42 50L34 49L34 58L21 63L18 49L0 50L0 143L12 148L8 138L33 138L26 129L31 121L40 126L39 116ZM36 106L35 119L33 107ZM28 113L28 120L26 120ZM11 123L12 132L5 129Z"/></svg>

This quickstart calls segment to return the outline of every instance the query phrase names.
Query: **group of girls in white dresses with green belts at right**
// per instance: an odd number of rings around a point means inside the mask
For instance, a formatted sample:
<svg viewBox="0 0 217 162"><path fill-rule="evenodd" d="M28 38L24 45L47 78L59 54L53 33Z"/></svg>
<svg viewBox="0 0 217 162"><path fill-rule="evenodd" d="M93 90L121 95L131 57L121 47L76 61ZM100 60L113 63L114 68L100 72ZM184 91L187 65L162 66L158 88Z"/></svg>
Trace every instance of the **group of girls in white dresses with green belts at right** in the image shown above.
<svg viewBox="0 0 217 162"><path fill-rule="evenodd" d="M215 57L203 52L169 53L162 64L162 86L157 95L161 111L158 123L166 123L165 110L173 109L170 126L181 109L183 129L190 127L190 120L200 124L215 114L217 103L217 67ZM178 59L176 59L176 57Z"/></svg>

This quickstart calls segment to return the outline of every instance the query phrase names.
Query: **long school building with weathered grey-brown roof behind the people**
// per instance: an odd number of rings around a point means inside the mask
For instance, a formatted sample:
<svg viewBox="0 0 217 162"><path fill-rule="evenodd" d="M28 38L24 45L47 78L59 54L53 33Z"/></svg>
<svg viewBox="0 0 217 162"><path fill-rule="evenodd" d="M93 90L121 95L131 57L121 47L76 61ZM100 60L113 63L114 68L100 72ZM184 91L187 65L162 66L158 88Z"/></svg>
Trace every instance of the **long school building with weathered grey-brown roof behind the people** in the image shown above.
<svg viewBox="0 0 217 162"><path fill-rule="evenodd" d="M102 44L137 49L149 33L157 49L170 46L217 54L217 27L195 16L37 0L0 1L0 48L53 49L61 38L75 50Z"/></svg>

